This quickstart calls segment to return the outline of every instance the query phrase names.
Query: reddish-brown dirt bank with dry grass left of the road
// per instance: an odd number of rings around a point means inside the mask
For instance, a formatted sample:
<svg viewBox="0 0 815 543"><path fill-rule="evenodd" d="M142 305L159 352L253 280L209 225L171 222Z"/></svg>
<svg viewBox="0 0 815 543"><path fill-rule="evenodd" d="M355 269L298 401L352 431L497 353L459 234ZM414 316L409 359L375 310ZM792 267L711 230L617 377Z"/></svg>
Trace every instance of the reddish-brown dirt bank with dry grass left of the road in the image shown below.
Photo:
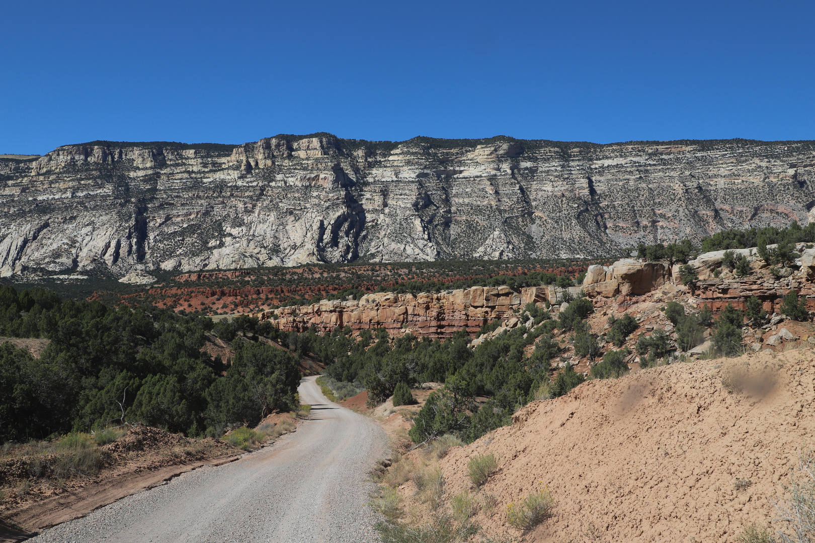
<svg viewBox="0 0 815 543"><path fill-rule="evenodd" d="M221 440L187 439L144 426L98 449L41 449L39 444L21 445L20 451L0 458L0 542L20 541L29 532L76 519L185 471L231 462L243 453ZM75 473L77 465L88 471L90 462L100 465L95 475Z"/></svg>

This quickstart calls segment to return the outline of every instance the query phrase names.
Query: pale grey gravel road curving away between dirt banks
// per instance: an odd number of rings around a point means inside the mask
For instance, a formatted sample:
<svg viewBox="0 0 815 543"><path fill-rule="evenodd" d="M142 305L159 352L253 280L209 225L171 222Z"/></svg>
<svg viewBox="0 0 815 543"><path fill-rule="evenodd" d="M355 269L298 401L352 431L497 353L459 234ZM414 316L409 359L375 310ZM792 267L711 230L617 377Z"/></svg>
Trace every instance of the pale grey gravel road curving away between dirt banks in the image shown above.
<svg viewBox="0 0 815 543"><path fill-rule="evenodd" d="M59 524L31 541L379 541L368 471L386 437L369 418L300 383L311 420L271 447L204 467Z"/></svg>

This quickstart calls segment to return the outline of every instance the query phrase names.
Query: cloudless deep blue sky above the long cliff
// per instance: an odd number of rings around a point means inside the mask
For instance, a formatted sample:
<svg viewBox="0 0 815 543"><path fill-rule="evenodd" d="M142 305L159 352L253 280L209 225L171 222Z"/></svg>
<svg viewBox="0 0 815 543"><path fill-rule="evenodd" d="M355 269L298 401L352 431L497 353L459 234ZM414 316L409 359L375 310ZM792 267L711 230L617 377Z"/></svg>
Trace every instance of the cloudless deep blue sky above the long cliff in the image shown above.
<svg viewBox="0 0 815 543"><path fill-rule="evenodd" d="M0 153L815 139L815 2L5 2Z"/></svg>

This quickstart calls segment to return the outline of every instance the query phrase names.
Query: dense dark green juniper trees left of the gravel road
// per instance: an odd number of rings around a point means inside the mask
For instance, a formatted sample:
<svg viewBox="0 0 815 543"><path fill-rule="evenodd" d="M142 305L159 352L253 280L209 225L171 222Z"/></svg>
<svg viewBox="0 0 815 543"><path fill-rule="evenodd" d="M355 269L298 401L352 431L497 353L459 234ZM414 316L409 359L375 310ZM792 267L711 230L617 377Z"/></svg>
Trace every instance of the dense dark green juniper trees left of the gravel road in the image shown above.
<svg viewBox="0 0 815 543"><path fill-rule="evenodd" d="M245 327L257 331L257 320L250 320ZM0 440L124 422L220 435L225 427L292 409L297 359L240 332L227 367L202 350L213 327L207 317L0 287L0 334L50 339L38 358L0 345Z"/></svg>

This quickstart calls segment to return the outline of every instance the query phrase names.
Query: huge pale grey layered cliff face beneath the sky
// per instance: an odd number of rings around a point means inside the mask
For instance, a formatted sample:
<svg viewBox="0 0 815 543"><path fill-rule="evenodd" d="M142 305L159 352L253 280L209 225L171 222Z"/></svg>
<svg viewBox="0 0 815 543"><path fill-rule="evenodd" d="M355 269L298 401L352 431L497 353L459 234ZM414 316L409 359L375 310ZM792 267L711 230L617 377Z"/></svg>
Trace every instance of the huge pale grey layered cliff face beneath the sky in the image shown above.
<svg viewBox="0 0 815 543"><path fill-rule="evenodd" d="M0 157L0 274L610 256L806 224L812 142L94 142Z"/></svg>

